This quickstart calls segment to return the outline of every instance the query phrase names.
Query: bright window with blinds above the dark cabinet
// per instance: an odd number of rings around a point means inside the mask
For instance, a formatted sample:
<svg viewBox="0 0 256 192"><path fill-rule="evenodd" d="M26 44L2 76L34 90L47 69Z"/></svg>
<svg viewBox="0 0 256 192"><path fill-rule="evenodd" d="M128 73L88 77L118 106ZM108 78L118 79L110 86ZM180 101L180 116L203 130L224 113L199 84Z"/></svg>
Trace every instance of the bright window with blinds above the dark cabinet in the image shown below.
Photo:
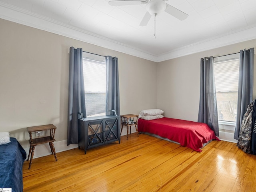
<svg viewBox="0 0 256 192"><path fill-rule="evenodd" d="M83 52L86 116L106 114L106 60Z"/></svg>

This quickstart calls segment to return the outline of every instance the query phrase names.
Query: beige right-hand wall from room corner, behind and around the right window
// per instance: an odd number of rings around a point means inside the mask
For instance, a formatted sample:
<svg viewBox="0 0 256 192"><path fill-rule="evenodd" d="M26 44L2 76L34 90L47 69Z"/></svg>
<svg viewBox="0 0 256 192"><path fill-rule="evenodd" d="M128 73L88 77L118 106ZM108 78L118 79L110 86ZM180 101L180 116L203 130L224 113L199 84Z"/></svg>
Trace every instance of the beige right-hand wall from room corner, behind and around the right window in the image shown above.
<svg viewBox="0 0 256 192"><path fill-rule="evenodd" d="M157 66L158 108L164 110L166 117L197 121L200 58L232 54L255 45L256 40L251 40L159 62ZM254 59L254 74L253 98L256 97L256 59Z"/></svg>

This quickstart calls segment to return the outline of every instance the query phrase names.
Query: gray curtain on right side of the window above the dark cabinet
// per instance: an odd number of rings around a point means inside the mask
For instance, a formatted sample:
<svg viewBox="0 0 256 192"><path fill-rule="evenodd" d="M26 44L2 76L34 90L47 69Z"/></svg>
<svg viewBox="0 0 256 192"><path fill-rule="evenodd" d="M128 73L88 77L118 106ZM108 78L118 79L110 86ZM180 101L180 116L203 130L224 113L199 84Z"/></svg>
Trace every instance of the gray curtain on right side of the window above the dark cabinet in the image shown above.
<svg viewBox="0 0 256 192"><path fill-rule="evenodd" d="M106 56L106 115L116 110L120 116L118 58Z"/></svg>

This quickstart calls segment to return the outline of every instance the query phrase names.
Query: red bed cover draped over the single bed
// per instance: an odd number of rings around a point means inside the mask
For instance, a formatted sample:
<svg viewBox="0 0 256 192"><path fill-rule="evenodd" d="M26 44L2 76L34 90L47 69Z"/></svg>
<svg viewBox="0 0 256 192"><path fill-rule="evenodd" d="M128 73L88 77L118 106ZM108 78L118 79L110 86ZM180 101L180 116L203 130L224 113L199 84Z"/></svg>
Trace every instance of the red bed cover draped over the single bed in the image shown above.
<svg viewBox="0 0 256 192"><path fill-rule="evenodd" d="M198 152L202 151L200 148L204 143L212 139L219 140L205 123L167 117L155 120L139 119L138 131L168 138Z"/></svg>

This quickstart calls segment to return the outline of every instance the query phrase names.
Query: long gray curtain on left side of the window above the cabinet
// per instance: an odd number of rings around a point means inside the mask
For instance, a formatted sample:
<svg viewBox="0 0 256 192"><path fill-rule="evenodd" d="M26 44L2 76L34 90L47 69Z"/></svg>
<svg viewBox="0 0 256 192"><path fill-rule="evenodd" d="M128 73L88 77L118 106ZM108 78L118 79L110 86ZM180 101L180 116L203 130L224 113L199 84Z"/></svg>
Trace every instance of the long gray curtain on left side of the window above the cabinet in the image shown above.
<svg viewBox="0 0 256 192"><path fill-rule="evenodd" d="M78 112L86 117L82 52L82 48L70 47L67 145L78 144Z"/></svg>

